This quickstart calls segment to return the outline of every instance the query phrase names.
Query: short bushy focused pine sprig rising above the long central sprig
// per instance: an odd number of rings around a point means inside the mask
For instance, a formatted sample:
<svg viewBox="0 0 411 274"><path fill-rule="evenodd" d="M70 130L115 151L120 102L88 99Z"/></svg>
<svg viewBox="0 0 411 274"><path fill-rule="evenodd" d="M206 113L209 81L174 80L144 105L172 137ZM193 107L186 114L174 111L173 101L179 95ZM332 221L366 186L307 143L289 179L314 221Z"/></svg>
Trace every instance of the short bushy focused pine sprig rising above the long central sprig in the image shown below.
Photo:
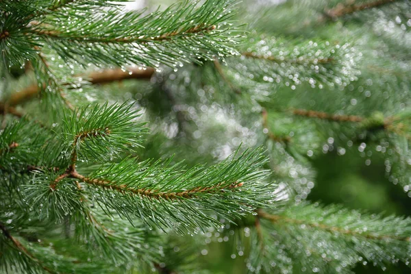
<svg viewBox="0 0 411 274"><path fill-rule="evenodd" d="M147 129L145 123L135 123L140 116L132 105L95 105L75 110L74 114L64 114L62 140L70 151L73 165L81 160L109 160L125 149L141 146L141 134ZM77 118L77 116L79 118Z"/></svg>

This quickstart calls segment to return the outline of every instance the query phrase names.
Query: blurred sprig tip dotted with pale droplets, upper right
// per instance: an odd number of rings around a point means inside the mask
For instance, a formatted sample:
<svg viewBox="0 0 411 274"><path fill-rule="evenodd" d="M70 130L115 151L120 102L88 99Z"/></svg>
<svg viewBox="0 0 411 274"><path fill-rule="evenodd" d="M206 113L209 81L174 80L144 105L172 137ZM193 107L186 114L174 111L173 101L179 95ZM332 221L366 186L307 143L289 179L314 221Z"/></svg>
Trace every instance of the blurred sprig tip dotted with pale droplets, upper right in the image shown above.
<svg viewBox="0 0 411 274"><path fill-rule="evenodd" d="M349 44L289 39L282 36L254 37L242 47L240 58L227 59L232 75L256 84L293 86L345 86L357 78L361 54ZM250 77L252 75L252 77Z"/></svg>

